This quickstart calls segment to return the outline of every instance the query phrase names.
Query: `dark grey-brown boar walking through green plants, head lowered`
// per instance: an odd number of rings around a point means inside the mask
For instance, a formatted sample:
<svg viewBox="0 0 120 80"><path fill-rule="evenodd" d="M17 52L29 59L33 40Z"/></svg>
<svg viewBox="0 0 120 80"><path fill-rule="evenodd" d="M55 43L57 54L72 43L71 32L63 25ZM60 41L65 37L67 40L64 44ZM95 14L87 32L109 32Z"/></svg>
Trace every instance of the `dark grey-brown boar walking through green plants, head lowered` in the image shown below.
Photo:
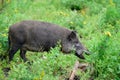
<svg viewBox="0 0 120 80"><path fill-rule="evenodd" d="M84 59L83 52L86 48L78 40L75 31L60 27L55 24L40 21L22 21L9 28L9 61L20 49L21 58L26 61L26 51L49 51L58 41L61 50L65 53L75 50L75 54Z"/></svg>

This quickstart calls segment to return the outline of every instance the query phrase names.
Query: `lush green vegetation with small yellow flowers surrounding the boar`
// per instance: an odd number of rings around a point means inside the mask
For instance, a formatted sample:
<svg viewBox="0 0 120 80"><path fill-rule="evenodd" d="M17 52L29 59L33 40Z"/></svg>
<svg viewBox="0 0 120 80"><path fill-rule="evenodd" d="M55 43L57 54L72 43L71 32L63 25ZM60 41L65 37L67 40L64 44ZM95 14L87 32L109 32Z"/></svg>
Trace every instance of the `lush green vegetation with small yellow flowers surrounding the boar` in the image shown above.
<svg viewBox="0 0 120 80"><path fill-rule="evenodd" d="M120 80L120 0L6 0L0 11L0 55L8 48L9 26L21 20L39 20L76 30L92 52L86 60L64 55L60 47L50 52L27 52L32 65L16 54L11 64L0 61L0 80L64 80L76 60L92 65L81 80ZM19 53L19 52L18 52ZM50 54L49 54L50 53ZM10 67L8 77L3 68Z"/></svg>

